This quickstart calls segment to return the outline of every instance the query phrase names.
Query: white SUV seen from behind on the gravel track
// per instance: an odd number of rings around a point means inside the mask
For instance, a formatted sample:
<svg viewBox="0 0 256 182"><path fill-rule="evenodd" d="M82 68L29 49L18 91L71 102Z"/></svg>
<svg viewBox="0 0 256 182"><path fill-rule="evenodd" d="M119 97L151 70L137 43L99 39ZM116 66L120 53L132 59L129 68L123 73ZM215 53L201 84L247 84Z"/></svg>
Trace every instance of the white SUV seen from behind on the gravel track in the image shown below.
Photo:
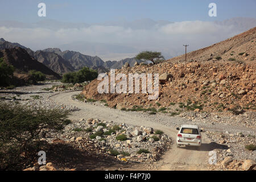
<svg viewBox="0 0 256 182"><path fill-rule="evenodd" d="M181 125L179 133L177 133L177 146L201 146L201 133L196 125Z"/></svg>

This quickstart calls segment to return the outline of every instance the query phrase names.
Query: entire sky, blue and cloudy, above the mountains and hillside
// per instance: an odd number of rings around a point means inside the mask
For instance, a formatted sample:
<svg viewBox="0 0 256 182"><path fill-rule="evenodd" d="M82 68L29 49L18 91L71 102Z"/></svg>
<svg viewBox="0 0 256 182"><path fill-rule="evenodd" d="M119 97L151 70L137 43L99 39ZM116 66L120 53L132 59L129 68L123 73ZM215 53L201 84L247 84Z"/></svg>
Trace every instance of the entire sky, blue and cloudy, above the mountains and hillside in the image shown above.
<svg viewBox="0 0 256 182"><path fill-rule="evenodd" d="M41 2L46 17L38 16ZM216 3L216 17L208 15L209 3ZM189 52L256 26L255 0L0 0L0 7L0 38L34 51L59 47L103 60L144 50L168 59L182 54L183 44ZM236 17L247 19L225 22Z"/></svg>

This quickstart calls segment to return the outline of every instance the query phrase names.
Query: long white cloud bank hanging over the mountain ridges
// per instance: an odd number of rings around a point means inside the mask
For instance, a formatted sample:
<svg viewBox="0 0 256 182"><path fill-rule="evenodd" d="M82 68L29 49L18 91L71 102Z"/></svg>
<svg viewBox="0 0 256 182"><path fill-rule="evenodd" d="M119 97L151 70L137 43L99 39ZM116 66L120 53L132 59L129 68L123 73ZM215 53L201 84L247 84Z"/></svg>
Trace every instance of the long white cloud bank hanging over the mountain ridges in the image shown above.
<svg viewBox="0 0 256 182"><path fill-rule="evenodd" d="M162 51L166 58L177 56L184 52L183 44L189 44L188 51L210 46L220 42L239 32L232 25L225 26L214 22L186 21L155 26L151 29L132 29L122 26L94 25L84 28L13 28L1 27L0 36L10 42L18 42L33 50L48 47L59 47L63 44L70 45L75 42L104 43L109 55L118 52L118 48L109 47L109 44L117 44L132 47L138 53L142 50ZM67 46L66 45L66 46ZM83 49L82 44L77 50L83 53L93 51ZM95 48L94 48L95 49ZM100 49L94 50L98 56L104 57ZM105 51L106 52L106 51ZM127 56L131 52L127 52ZM123 54L123 57L126 55ZM105 55L108 57L108 55ZM120 57L118 57L119 59Z"/></svg>

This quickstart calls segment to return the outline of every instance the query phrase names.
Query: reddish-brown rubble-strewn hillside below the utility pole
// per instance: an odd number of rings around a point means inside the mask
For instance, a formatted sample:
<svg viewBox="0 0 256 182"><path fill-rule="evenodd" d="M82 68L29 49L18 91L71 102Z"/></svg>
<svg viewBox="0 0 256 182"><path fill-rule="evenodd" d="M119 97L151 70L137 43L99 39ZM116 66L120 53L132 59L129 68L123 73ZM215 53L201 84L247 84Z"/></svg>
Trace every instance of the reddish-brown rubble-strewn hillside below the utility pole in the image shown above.
<svg viewBox="0 0 256 182"><path fill-rule="evenodd" d="M234 114L255 111L256 27L207 48L156 65L137 65L115 73L166 73L159 85L158 100L147 94L99 94L94 80L82 92L86 98L106 100L110 107L161 107L167 113L194 111L232 111ZM181 63L180 63L181 62Z"/></svg>

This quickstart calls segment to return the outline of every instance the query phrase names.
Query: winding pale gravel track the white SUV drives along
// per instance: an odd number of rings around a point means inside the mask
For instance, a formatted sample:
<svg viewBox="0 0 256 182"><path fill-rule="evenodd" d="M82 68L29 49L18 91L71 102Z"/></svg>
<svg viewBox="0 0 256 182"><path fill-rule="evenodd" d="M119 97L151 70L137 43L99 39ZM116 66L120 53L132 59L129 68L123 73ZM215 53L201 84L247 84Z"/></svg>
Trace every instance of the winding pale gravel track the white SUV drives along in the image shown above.
<svg viewBox="0 0 256 182"><path fill-rule="evenodd" d="M176 126L180 126L184 123L189 123L187 119L169 117L164 114L148 115L143 113L136 113L131 111L121 111L117 109L110 109L106 106L94 105L91 103L84 103L80 101L72 100L72 95L79 94L79 92L65 92L57 93L49 98L58 104L74 105L81 109L75 111L70 116L71 119L81 118L98 118L105 121L114 121L117 123L127 123L135 126L148 126L154 129L164 131L173 140L171 150L167 151L163 156L163 159L159 162L155 162L154 170L207 170L209 151L215 148L225 148L226 146L210 142L206 135L203 133L203 143L200 148L197 147L176 147ZM200 125L209 130L225 130L228 127L229 131L236 127L214 125L212 127ZM250 129L244 129L250 130ZM226 149L226 148L225 148Z"/></svg>

